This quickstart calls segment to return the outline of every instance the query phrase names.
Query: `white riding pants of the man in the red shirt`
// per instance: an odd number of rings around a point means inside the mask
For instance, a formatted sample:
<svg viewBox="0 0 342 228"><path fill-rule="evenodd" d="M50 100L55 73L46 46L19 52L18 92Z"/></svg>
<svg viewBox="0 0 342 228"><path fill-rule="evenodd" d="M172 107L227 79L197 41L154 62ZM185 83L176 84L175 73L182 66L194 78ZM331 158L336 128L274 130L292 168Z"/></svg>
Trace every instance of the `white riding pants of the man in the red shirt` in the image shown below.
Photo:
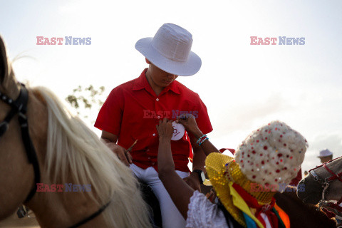
<svg viewBox="0 0 342 228"><path fill-rule="evenodd" d="M160 211L162 212L162 227L163 228L184 228L185 219L182 214L178 211L172 199L167 193L162 181L158 177L157 171L153 167L148 167L146 170L138 167L137 165L130 165L130 169L133 173L142 181L146 182L152 187L153 193L157 197L160 204ZM177 174L182 177L189 177L189 172L182 172L176 170ZM180 190L180 194L182 191Z"/></svg>

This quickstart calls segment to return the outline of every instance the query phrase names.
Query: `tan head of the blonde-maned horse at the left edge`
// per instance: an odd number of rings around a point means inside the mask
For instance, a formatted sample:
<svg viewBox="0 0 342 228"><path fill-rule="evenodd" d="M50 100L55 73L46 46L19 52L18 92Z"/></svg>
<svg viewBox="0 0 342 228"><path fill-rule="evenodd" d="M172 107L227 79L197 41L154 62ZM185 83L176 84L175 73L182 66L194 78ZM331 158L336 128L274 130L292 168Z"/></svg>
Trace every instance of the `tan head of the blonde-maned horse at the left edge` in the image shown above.
<svg viewBox="0 0 342 228"><path fill-rule="evenodd" d="M12 109L6 101L16 100L20 88L21 84L16 81L4 40L0 36L0 220L15 212L36 185L33 167L28 162L21 138L18 113L11 120L5 120ZM43 110L44 105L29 92L27 116L36 117L28 118L29 133L33 136L32 142L37 155L41 155L44 150L44 144L40 142L46 141L47 118Z"/></svg>

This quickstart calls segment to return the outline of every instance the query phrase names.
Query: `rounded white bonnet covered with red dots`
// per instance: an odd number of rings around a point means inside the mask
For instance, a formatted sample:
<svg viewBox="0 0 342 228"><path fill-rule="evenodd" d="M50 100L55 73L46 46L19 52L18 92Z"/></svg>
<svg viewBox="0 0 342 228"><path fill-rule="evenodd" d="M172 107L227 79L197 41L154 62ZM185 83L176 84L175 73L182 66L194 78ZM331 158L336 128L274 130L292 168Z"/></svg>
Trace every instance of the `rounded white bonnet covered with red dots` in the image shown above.
<svg viewBox="0 0 342 228"><path fill-rule="evenodd" d="M260 185L288 185L296 177L308 144L280 121L252 132L237 148L235 161L246 177Z"/></svg>

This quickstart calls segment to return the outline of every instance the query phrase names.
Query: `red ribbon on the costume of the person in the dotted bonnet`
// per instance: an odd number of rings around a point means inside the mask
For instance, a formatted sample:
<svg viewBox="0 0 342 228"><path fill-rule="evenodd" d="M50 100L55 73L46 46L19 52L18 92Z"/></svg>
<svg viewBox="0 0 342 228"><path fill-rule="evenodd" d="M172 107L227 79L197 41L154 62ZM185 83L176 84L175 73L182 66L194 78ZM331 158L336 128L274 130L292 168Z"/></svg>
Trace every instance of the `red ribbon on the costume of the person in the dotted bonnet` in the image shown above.
<svg viewBox="0 0 342 228"><path fill-rule="evenodd" d="M274 204L276 203L276 199L274 199L274 197L272 197L270 204L260 205L258 203L258 200L252 197L252 195L249 195L249 193L246 192L246 190L244 190L240 185L233 183L233 187L235 190L237 190L237 192L239 192L239 195L242 197L242 199L244 199L244 202L247 203L248 207L257 209L257 212L255 212L254 215L264 225L264 227L266 227L266 223L261 217L261 212L264 212L264 214L266 214L272 227L278 228L278 217L276 217L276 214L271 211L271 209L274 207Z"/></svg>

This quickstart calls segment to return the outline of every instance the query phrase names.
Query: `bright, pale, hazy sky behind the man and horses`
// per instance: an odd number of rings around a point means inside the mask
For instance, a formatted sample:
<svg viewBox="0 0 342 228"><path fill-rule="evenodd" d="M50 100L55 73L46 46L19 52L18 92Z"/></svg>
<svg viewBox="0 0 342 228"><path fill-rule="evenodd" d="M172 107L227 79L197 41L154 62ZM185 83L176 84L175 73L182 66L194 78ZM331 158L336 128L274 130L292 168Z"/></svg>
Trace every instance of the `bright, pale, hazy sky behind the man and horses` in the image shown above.
<svg viewBox="0 0 342 228"><path fill-rule="evenodd" d="M236 149L252 130L281 120L308 140L302 167L309 170L319 150L342 155L341 11L341 1L316 0L0 0L0 33L10 58L22 57L13 63L17 78L63 100L78 86L105 86L108 95L137 78L147 64L135 42L164 23L182 26L202 68L177 81L207 105L214 145ZM38 46L36 36L91 37L91 45ZM251 45L251 36L305 44Z"/></svg>

